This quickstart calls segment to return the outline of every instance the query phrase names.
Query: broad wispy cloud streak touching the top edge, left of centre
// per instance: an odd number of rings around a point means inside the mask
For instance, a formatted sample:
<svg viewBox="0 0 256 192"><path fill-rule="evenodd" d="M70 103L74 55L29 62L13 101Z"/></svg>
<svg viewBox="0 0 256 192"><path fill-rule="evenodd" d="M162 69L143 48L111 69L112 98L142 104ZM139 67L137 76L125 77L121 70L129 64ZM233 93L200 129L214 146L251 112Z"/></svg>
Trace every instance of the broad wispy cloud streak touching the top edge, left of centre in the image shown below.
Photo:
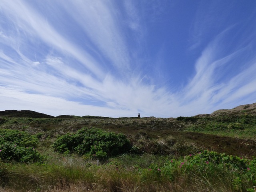
<svg viewBox="0 0 256 192"><path fill-rule="evenodd" d="M121 34L118 9L112 1L66 1L66 11L83 28L100 54L119 70L129 69L130 57L126 40ZM90 6L88 6L90 4ZM84 42L86 44L86 42Z"/></svg>

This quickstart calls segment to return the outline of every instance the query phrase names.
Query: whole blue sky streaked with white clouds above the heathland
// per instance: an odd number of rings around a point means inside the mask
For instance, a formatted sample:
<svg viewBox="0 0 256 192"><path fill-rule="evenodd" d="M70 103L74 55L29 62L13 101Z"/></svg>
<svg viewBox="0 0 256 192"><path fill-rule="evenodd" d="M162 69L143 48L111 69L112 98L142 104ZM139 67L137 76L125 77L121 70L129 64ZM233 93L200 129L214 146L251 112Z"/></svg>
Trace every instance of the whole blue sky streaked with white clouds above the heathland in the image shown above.
<svg viewBox="0 0 256 192"><path fill-rule="evenodd" d="M1 0L0 110L168 118L254 102L255 0Z"/></svg>

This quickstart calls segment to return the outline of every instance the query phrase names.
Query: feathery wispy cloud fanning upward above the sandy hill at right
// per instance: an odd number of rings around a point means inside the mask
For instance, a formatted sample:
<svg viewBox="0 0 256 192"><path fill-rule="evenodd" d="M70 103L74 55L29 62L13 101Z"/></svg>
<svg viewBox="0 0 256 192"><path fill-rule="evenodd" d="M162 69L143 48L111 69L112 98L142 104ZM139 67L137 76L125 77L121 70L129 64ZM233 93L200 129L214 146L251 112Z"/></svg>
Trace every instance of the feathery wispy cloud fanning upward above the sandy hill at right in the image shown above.
<svg viewBox="0 0 256 192"><path fill-rule="evenodd" d="M248 54L251 48L247 45L238 44L231 52L225 51L225 35L220 34L208 44L196 61L195 74L182 90L184 106L216 110L228 104L236 106L245 97L248 102L254 100L256 57Z"/></svg>

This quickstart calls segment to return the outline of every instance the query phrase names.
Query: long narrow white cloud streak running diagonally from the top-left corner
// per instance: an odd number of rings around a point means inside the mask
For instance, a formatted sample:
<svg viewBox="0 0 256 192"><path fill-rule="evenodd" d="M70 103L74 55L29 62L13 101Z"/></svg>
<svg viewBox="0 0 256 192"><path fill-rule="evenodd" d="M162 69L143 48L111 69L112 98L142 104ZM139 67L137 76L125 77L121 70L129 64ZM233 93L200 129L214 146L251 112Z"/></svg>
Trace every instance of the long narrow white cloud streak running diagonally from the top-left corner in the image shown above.
<svg viewBox="0 0 256 192"><path fill-rule="evenodd" d="M33 36L36 33L47 44L53 45L59 50L64 51L64 53L74 56L88 70L96 74L98 78L104 76L99 64L88 53L82 52L75 45L63 38L61 34L50 26L47 20L32 10L25 1L19 0L12 2L5 0L2 2L1 8L9 15L12 15L12 20L20 30ZM31 32L34 32L34 34L31 34Z"/></svg>

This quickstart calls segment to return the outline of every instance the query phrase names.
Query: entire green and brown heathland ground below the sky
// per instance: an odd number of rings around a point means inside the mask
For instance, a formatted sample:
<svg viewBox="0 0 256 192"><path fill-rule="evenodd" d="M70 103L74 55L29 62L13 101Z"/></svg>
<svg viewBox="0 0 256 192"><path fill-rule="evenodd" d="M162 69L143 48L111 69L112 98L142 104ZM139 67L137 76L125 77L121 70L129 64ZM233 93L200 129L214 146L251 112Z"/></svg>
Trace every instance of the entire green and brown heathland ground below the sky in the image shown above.
<svg viewBox="0 0 256 192"><path fill-rule="evenodd" d="M178 118L0 114L0 191L256 191L249 107Z"/></svg>

